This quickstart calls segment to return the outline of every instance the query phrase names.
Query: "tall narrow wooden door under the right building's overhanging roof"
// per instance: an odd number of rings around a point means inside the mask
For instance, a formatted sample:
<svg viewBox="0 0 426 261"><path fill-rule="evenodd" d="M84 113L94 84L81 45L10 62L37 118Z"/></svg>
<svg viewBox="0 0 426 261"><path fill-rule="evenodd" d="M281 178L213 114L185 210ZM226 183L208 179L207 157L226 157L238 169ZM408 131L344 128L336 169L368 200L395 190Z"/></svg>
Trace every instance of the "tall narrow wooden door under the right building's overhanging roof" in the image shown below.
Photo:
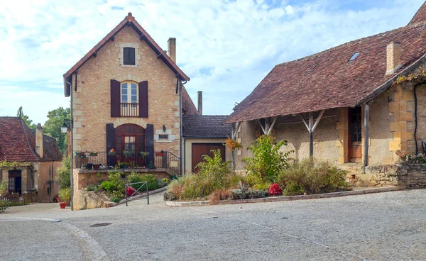
<svg viewBox="0 0 426 261"><path fill-rule="evenodd" d="M349 123L349 162L361 162L362 161L362 144L361 144L361 106L355 108L349 108L348 111L348 123Z"/></svg>

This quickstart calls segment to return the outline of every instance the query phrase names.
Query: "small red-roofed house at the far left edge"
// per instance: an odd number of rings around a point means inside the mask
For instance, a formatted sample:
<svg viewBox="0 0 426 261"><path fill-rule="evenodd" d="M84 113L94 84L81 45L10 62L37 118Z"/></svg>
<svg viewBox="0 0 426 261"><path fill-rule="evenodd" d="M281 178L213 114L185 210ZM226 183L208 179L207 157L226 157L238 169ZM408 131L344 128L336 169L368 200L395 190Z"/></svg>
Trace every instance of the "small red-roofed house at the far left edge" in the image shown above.
<svg viewBox="0 0 426 261"><path fill-rule="evenodd" d="M35 188L40 202L53 202L61 160L56 140L43 135L40 124L30 130L21 118L0 117L0 162L9 162L0 167L0 181L8 180L9 193Z"/></svg>

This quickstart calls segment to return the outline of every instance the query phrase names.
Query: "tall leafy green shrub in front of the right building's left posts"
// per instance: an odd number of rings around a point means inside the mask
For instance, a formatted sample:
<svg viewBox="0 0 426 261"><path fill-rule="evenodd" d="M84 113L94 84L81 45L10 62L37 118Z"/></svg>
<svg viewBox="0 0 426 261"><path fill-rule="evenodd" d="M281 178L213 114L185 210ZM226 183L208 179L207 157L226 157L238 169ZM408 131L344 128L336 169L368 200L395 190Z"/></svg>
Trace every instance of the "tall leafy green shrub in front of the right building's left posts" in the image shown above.
<svg viewBox="0 0 426 261"><path fill-rule="evenodd" d="M247 180L252 186L269 187L280 170L288 166L288 156L293 151L280 152L281 146L285 145L287 140L276 143L273 137L261 135L249 146L254 157L245 157L243 161L246 163Z"/></svg>

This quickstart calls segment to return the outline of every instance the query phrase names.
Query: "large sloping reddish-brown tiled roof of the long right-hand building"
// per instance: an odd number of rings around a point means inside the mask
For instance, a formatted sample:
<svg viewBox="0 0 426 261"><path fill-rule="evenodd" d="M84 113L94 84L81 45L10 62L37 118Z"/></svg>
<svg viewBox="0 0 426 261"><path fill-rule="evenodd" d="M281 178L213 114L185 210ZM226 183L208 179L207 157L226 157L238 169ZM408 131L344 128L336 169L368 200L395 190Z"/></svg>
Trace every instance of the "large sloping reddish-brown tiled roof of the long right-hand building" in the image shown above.
<svg viewBox="0 0 426 261"><path fill-rule="evenodd" d="M424 8L425 5L422 6ZM409 72L426 53L426 22L354 40L276 65L226 122L356 106ZM400 42L402 67L385 76L386 45ZM355 60L349 61L359 52Z"/></svg>

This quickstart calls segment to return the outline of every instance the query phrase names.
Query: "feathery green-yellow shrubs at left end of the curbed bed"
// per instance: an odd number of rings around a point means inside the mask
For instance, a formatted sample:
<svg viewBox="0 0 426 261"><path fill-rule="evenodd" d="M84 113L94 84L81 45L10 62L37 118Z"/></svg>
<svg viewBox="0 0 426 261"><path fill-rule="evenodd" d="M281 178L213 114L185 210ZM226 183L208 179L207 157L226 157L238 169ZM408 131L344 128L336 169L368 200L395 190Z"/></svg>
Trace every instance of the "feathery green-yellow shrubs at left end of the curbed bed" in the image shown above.
<svg viewBox="0 0 426 261"><path fill-rule="evenodd" d="M207 199L214 191L226 191L236 187L244 177L229 170L229 162L223 162L220 150L213 151L214 157L203 156L204 162L197 165L197 174L185 174L168 185L165 199Z"/></svg>

